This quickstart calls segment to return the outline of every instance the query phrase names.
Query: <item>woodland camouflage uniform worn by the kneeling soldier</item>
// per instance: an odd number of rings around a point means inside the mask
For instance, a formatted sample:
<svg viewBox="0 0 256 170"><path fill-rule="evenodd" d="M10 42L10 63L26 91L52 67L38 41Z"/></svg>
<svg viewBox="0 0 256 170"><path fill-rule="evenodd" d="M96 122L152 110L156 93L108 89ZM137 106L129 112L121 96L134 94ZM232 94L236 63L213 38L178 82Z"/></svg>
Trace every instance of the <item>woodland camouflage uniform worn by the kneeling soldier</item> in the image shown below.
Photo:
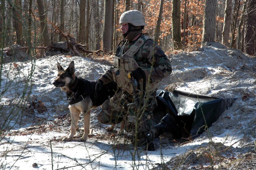
<svg viewBox="0 0 256 170"><path fill-rule="evenodd" d="M138 41L141 41L141 38L143 39L142 44L138 47L137 52L130 54L130 56L126 54L129 50L134 49L132 45L139 43ZM127 105L133 102L132 85L127 78L127 73L137 68L141 68L146 75L146 87L143 87L143 79L138 81L139 89L141 89L141 102L143 102L143 106L145 107L142 107L139 112L145 113L146 115L150 114L152 119L152 111L157 106L155 98L157 87L164 77L171 74L171 63L162 48L144 34L135 41L126 41L118 49L114 58L114 65L99 80L103 84L115 80L122 90L103 103L98 120L104 124L116 124L120 123L128 115L138 117L138 115L135 115L138 112L136 108ZM143 88L145 89L144 93L142 92ZM148 120L147 122L151 124L151 121Z"/></svg>

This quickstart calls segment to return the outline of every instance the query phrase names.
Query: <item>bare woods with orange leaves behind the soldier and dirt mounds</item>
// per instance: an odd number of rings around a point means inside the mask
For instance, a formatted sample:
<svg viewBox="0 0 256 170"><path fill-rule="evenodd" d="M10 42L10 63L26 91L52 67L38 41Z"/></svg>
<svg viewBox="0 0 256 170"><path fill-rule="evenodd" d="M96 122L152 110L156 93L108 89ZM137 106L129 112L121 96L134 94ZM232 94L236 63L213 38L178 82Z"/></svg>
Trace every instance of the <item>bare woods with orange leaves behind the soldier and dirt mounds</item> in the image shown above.
<svg viewBox="0 0 256 170"><path fill-rule="evenodd" d="M86 45L84 52L114 52L123 39L119 17L132 9L167 54L219 41L255 55L256 0L1 0L1 54L16 43L38 58L39 47L65 37Z"/></svg>

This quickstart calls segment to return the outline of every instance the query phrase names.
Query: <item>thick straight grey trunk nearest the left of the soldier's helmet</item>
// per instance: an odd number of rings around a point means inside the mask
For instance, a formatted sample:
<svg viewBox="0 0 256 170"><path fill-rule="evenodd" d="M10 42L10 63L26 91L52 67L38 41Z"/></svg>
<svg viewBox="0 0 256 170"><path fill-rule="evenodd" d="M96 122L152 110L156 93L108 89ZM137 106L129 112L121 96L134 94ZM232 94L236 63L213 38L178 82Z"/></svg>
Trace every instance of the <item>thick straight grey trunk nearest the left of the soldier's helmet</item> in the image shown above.
<svg viewBox="0 0 256 170"><path fill-rule="evenodd" d="M111 50L113 37L112 32L114 31L113 23L113 1L105 0L105 10L104 10L104 25L103 25L103 46L102 50Z"/></svg>

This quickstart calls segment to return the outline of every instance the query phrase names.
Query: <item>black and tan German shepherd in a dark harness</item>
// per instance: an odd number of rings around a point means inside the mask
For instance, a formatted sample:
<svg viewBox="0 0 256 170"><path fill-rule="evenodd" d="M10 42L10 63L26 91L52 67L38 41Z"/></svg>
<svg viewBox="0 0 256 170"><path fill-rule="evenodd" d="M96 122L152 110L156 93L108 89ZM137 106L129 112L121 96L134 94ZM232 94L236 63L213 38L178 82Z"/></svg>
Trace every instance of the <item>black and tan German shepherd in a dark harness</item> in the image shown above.
<svg viewBox="0 0 256 170"><path fill-rule="evenodd" d="M118 86L114 81L102 85L98 91L97 101L94 101L95 85L97 81L88 81L75 76L74 61L72 61L67 69L63 69L57 62L58 76L52 83L55 87L60 87L66 92L71 112L71 132L68 137L64 137L62 141L70 141L77 129L79 115L83 113L83 136L78 141L86 141L90 131L90 114L91 108L95 108L103 104L109 97L114 96L118 90ZM106 130L113 130L115 124Z"/></svg>

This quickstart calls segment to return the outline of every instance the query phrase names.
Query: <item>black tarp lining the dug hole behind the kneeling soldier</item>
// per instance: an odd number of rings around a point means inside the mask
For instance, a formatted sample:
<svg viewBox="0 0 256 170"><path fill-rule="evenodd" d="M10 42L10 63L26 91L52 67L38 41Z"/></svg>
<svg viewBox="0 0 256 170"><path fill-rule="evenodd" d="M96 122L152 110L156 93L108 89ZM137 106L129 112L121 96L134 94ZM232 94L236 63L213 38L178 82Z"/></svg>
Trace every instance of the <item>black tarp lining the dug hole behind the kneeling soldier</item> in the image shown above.
<svg viewBox="0 0 256 170"><path fill-rule="evenodd" d="M157 90L157 104L154 109L154 122L157 124L169 113L177 124L196 137L218 120L222 113L231 107L236 98L216 98L207 95L187 93L180 90L173 92Z"/></svg>

